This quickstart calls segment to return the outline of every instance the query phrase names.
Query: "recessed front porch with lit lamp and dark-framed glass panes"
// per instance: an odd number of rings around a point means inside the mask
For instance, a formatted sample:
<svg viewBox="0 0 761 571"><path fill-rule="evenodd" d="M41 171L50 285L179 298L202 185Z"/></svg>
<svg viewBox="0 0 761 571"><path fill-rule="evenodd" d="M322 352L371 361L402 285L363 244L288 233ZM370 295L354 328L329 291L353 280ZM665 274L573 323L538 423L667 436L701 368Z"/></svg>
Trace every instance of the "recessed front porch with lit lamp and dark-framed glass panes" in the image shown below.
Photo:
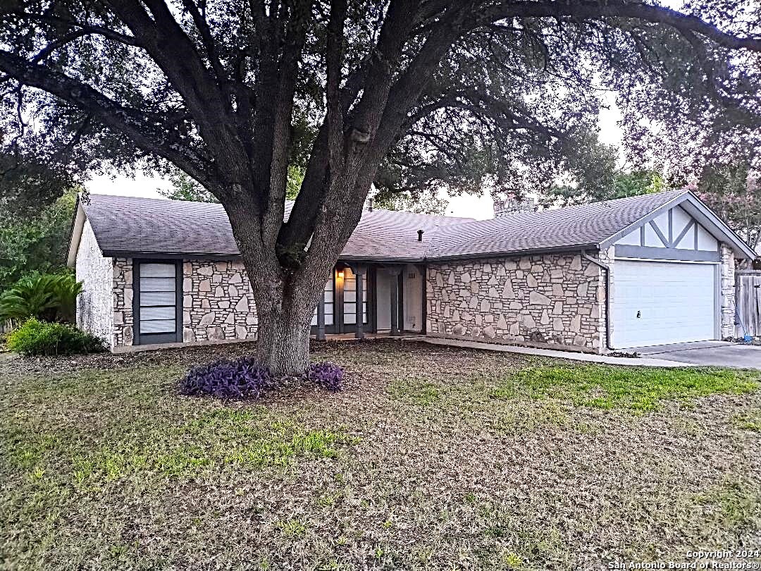
<svg viewBox="0 0 761 571"><path fill-rule="evenodd" d="M409 263L337 263L312 317L317 340L421 333L425 266Z"/></svg>

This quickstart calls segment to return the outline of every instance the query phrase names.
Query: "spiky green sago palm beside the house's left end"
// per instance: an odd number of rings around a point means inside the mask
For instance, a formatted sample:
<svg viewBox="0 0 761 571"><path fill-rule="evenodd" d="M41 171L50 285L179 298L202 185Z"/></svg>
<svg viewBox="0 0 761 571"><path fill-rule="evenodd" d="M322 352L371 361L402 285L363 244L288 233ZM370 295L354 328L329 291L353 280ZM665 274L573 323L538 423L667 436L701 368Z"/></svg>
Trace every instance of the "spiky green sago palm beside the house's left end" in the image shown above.
<svg viewBox="0 0 761 571"><path fill-rule="evenodd" d="M35 317L72 323L81 291L82 283L71 273L33 273L0 295L0 322Z"/></svg>

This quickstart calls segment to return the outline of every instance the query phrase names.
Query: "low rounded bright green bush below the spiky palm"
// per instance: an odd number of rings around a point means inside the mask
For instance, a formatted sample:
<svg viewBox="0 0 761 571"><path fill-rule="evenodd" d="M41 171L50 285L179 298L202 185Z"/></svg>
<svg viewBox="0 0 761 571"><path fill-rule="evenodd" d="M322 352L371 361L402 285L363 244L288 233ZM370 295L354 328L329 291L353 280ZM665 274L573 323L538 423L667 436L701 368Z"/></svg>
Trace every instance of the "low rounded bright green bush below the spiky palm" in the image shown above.
<svg viewBox="0 0 761 571"><path fill-rule="evenodd" d="M73 325L37 321L34 317L11 331L7 346L21 355L73 355L107 349L105 340Z"/></svg>

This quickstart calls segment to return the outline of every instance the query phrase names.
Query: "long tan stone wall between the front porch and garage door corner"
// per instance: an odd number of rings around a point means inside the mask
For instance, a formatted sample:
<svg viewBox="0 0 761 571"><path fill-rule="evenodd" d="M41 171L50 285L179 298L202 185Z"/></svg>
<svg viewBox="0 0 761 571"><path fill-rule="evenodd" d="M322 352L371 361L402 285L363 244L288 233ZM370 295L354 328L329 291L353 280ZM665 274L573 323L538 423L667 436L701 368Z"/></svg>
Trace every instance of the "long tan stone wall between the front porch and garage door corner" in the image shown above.
<svg viewBox="0 0 761 571"><path fill-rule="evenodd" d="M435 337L603 350L603 270L579 254L428 266Z"/></svg>

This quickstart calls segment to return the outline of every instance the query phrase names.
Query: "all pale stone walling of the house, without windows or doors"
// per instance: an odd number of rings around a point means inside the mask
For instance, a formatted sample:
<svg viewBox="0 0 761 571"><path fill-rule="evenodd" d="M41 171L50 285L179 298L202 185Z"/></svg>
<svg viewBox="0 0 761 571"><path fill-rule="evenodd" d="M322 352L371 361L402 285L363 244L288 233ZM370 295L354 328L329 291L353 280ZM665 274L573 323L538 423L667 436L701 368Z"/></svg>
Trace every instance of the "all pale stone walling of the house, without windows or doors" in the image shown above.
<svg viewBox="0 0 761 571"><path fill-rule="evenodd" d="M114 348L133 343L132 259L108 258L92 249L84 229L77 262L87 284L78 321ZM91 239L92 238L92 239ZM721 244L721 338L735 334L734 253ZM613 247L595 254L615 273ZM426 327L434 337L524 343L603 352L607 295L613 279L581 254L544 254L431 263L426 272ZM101 292L103 290L103 292ZM102 295L101 295L102 294ZM185 260L183 341L255 339L256 307L243 264Z"/></svg>

